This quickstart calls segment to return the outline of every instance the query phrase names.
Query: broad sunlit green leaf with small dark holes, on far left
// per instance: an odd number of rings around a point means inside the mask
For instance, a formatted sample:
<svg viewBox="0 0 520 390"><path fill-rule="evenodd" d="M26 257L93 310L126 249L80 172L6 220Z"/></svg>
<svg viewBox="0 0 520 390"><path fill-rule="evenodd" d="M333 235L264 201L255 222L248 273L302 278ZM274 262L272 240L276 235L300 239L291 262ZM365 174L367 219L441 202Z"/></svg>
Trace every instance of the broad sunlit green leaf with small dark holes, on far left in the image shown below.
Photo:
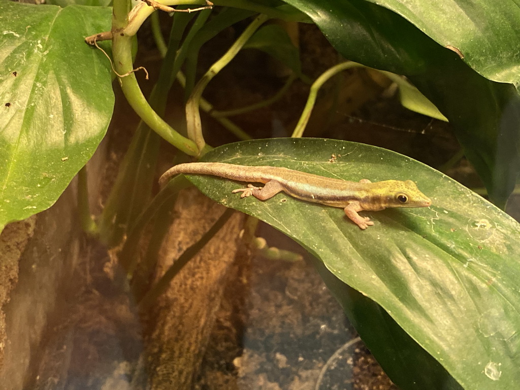
<svg viewBox="0 0 520 390"><path fill-rule="evenodd" d="M111 9L0 1L0 230L50 207L92 157L114 104L107 58L84 37Z"/></svg>

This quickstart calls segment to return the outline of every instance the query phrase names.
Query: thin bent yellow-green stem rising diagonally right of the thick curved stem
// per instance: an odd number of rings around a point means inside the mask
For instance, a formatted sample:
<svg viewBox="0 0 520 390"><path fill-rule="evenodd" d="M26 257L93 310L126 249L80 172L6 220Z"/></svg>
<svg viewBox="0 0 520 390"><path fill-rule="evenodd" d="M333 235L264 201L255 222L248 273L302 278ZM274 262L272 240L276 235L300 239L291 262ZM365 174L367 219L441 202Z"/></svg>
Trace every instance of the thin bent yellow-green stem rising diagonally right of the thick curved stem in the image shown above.
<svg viewBox="0 0 520 390"><path fill-rule="evenodd" d="M249 40L251 35L260 27L269 17L267 15L259 15L253 22L244 30L237 41L231 45L226 53L216 61L211 68L202 76L201 80L193 89L188 102L186 103L186 124L188 128L188 137L195 142L199 150L203 150L206 145L202 135L202 124L200 120L199 104L202 97L202 92L207 83L220 72L231 61L242 46Z"/></svg>

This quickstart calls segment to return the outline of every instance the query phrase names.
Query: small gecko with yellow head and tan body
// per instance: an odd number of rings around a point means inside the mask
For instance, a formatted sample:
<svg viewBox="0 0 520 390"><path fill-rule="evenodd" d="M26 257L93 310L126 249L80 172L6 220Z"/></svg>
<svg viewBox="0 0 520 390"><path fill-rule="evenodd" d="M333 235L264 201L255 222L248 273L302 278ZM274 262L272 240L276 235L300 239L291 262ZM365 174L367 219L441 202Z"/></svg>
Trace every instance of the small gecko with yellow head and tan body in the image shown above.
<svg viewBox="0 0 520 390"><path fill-rule="evenodd" d="M267 200L283 191L291 197L327 206L341 207L345 215L360 229L373 226L369 217L362 217L361 211L380 211L387 207L428 207L432 204L412 180L385 180L372 183L368 179L348 181L294 171L275 166L245 166L226 163L178 164L167 170L159 179L164 187L172 176L183 174L212 175L226 179L263 183L264 187L248 184L238 188L240 197L253 196Z"/></svg>

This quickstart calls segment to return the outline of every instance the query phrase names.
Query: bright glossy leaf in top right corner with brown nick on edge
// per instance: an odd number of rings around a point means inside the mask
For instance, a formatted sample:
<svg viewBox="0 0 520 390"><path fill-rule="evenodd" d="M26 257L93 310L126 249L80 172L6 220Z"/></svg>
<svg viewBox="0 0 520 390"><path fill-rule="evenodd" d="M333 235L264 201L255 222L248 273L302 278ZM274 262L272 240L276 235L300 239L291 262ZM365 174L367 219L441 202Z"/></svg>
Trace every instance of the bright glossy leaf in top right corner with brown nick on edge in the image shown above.
<svg viewBox="0 0 520 390"><path fill-rule="evenodd" d="M520 86L520 7L515 0L368 0L391 9L489 80ZM457 51L456 51L457 53Z"/></svg>

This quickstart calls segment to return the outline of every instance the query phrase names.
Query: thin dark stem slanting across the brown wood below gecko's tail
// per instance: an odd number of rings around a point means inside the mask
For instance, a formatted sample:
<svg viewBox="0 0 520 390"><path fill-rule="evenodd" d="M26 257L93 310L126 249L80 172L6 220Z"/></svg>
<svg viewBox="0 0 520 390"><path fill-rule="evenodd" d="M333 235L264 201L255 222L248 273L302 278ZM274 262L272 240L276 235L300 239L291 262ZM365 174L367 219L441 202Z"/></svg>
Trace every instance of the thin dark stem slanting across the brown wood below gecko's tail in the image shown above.
<svg viewBox="0 0 520 390"><path fill-rule="evenodd" d="M173 265L165 272L161 279L153 286L153 288L148 291L148 293L139 301L138 306L140 311L144 311L148 309L154 302L157 300L159 295L161 295L166 289L173 278L179 273L181 269L197 254L199 251L204 248L213 236L226 224L227 220L233 215L235 210L226 209L226 211L217 219L217 222L213 224L213 226L204 233L199 241L191 245L183 254L179 256L179 258L173 263Z"/></svg>

